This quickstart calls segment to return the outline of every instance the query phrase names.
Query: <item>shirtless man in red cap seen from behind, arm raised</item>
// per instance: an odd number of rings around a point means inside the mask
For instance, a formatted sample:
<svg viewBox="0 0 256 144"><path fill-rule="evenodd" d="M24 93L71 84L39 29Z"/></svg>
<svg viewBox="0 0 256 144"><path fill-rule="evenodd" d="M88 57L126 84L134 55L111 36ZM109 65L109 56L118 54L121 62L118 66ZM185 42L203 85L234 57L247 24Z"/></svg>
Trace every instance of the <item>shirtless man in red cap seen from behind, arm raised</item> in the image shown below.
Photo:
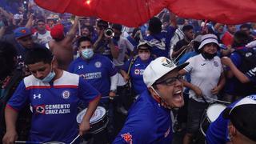
<svg viewBox="0 0 256 144"><path fill-rule="evenodd" d="M67 70L70 62L73 61L72 41L78 30L78 17L74 18L74 24L66 36L64 35L64 27L62 24L54 26L50 35L53 40L49 42L49 47L58 61L58 68Z"/></svg>

